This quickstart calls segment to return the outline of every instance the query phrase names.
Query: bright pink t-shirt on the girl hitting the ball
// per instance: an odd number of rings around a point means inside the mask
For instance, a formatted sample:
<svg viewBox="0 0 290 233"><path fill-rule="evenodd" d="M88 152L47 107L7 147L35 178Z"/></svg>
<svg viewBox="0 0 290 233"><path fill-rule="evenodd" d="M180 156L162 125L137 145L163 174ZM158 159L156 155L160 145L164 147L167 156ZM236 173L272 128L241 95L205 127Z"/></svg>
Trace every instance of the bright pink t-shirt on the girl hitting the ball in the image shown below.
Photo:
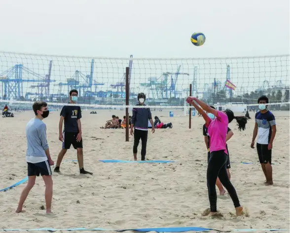
<svg viewBox="0 0 290 233"><path fill-rule="evenodd" d="M210 151L226 151L225 138L227 134L228 118L225 113L217 111L217 117L210 121L208 133L210 135Z"/></svg>

